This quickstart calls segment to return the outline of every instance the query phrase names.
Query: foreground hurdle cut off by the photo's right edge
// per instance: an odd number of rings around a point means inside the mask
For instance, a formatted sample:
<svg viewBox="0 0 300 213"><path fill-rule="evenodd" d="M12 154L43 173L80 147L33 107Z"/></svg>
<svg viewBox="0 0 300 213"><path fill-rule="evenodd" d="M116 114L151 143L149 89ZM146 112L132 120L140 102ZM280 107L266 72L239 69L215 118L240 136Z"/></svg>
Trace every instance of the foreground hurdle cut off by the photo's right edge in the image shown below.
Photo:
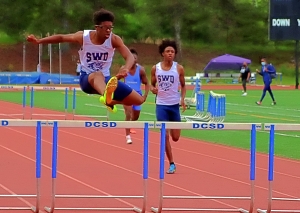
<svg viewBox="0 0 300 213"><path fill-rule="evenodd" d="M259 213L271 213L271 212L300 212L300 209L296 210L275 210L272 209L272 201L300 201L300 198L277 198L273 197L273 181L274 181L274 148L275 148L275 131L300 131L300 124L265 124L264 130L270 132L269 137L269 169L268 169L268 207L266 210L257 209Z"/></svg>

